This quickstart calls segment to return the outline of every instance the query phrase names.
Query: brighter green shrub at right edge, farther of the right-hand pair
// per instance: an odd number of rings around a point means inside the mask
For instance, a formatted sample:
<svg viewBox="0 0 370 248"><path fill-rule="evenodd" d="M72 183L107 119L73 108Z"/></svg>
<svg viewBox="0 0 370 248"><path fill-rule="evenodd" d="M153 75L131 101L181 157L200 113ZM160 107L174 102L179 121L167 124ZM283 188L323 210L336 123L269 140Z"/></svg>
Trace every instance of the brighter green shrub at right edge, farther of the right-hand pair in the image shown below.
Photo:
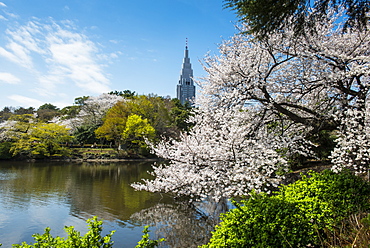
<svg viewBox="0 0 370 248"><path fill-rule="evenodd" d="M297 203L319 228L330 227L351 213L370 208L370 185L348 170L339 174L325 170L282 186L275 197Z"/></svg>

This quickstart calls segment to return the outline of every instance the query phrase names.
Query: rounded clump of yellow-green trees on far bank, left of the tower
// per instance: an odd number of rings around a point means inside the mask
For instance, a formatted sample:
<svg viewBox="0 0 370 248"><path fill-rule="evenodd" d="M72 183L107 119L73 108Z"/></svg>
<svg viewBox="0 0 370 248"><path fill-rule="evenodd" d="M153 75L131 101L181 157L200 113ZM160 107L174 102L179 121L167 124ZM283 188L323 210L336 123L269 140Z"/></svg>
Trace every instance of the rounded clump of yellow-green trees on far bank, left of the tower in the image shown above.
<svg viewBox="0 0 370 248"><path fill-rule="evenodd" d="M95 131L100 138L112 140L117 146L146 146L144 138L178 136L185 129L184 118L190 109L181 109L176 101L156 95L136 95L114 104Z"/></svg>

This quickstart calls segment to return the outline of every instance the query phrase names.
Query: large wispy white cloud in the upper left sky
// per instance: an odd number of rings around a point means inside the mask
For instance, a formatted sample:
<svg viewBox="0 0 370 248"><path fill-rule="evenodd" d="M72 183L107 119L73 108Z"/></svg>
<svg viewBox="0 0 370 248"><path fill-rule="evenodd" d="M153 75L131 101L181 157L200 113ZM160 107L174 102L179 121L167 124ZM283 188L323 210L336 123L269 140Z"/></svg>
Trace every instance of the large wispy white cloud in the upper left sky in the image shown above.
<svg viewBox="0 0 370 248"><path fill-rule="evenodd" d="M110 91L106 64L101 62L117 55L101 54L97 43L78 32L73 22L34 19L9 27L5 35L8 42L0 46L0 57L31 72L37 80L33 91L39 95L55 96L58 87L71 83L87 93Z"/></svg>

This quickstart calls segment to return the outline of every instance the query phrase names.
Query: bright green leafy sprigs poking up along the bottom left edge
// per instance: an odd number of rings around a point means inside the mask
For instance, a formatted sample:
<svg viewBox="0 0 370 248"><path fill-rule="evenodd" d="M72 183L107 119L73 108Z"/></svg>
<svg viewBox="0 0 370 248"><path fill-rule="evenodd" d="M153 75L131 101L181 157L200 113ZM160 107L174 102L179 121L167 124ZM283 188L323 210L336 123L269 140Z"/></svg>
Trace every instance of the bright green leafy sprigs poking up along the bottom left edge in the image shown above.
<svg viewBox="0 0 370 248"><path fill-rule="evenodd" d="M35 240L34 244L27 244L23 242L22 244L14 244L14 248L41 248L41 247L58 247L58 248L109 248L113 247L113 241L111 240L112 235L115 231L111 231L104 237L101 236L103 230L103 221L99 221L97 217L93 217L86 221L89 226L89 231L81 236L80 232L76 231L73 226L65 227L68 234L67 238L61 238L59 236L53 237L50 234L50 228L45 228L44 234L34 234L32 237ZM142 239L138 242L136 248L154 248L164 239L150 240L149 230L146 226L143 230L144 235ZM1 244L0 244L1 246Z"/></svg>

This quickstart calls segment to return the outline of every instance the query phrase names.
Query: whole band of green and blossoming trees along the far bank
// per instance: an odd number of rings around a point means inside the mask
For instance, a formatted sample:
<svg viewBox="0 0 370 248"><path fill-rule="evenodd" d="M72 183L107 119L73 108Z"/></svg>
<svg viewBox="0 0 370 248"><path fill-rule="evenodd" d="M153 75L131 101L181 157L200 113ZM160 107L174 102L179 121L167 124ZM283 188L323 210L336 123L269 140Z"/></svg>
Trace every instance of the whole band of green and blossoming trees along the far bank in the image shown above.
<svg viewBox="0 0 370 248"><path fill-rule="evenodd" d="M52 104L38 110L5 107L0 159L73 157L83 151L71 147L86 146L105 147L107 153L115 148L115 157L152 156L145 140L176 138L188 130L190 109L177 99L128 90L79 97L62 110Z"/></svg>

